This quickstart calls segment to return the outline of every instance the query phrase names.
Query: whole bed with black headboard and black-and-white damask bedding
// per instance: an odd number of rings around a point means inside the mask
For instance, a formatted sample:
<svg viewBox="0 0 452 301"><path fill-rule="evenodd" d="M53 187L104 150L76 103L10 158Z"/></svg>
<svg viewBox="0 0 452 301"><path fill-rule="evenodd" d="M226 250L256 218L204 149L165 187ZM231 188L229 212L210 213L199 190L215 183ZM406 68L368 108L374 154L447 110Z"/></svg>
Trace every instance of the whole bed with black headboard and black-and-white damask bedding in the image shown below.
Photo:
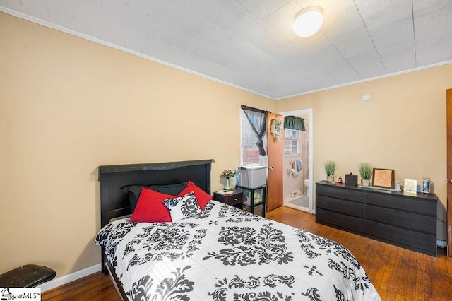
<svg viewBox="0 0 452 301"><path fill-rule="evenodd" d="M102 247L102 271L124 300L381 300L337 242L210 199L191 210L196 191L165 199L172 221L131 221L144 201L132 210L124 187L188 181L210 196L212 163L99 167L95 243ZM190 208L182 218L181 203Z"/></svg>

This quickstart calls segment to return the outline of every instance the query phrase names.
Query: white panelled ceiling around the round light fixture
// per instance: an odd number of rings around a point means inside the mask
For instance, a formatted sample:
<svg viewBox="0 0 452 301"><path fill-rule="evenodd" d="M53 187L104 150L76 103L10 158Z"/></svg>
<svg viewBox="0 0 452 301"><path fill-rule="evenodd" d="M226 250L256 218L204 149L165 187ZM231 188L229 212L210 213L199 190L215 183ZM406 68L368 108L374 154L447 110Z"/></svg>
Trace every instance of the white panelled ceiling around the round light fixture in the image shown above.
<svg viewBox="0 0 452 301"><path fill-rule="evenodd" d="M321 6L321 30L292 30ZM452 0L0 0L0 11L280 99L452 62Z"/></svg>

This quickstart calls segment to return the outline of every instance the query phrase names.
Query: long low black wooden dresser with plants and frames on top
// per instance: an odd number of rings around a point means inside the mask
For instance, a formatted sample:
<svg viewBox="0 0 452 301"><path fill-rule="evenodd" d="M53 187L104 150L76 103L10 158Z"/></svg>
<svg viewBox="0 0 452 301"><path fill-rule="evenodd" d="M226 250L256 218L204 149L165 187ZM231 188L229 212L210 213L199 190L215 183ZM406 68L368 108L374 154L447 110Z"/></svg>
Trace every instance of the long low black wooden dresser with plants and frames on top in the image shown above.
<svg viewBox="0 0 452 301"><path fill-rule="evenodd" d="M316 222L436 257L438 197L316 183Z"/></svg>

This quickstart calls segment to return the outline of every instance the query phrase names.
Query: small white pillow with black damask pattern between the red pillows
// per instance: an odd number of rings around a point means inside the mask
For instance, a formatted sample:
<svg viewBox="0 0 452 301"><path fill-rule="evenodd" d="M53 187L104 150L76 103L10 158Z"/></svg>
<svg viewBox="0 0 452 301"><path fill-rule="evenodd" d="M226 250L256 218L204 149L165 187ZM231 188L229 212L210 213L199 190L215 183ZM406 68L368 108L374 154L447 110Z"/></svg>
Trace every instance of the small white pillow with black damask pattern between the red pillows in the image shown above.
<svg viewBox="0 0 452 301"><path fill-rule="evenodd" d="M189 218L190 216L201 213L201 208L193 191L184 196L177 196L174 199L165 199L163 203L169 209L172 222L177 222L183 218Z"/></svg>

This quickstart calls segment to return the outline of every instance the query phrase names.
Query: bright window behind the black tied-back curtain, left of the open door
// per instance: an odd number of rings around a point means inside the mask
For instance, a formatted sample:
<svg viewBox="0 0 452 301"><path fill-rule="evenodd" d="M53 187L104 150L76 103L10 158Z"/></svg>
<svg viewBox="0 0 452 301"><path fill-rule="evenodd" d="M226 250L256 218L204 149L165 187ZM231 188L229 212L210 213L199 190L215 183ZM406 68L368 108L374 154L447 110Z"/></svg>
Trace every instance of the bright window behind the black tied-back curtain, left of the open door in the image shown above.
<svg viewBox="0 0 452 301"><path fill-rule="evenodd" d="M250 117L253 118L252 116ZM261 164L266 165L266 156L259 155L256 143L258 138L254 134L251 124L242 110L242 165ZM267 137L263 136L263 147L267 149Z"/></svg>

